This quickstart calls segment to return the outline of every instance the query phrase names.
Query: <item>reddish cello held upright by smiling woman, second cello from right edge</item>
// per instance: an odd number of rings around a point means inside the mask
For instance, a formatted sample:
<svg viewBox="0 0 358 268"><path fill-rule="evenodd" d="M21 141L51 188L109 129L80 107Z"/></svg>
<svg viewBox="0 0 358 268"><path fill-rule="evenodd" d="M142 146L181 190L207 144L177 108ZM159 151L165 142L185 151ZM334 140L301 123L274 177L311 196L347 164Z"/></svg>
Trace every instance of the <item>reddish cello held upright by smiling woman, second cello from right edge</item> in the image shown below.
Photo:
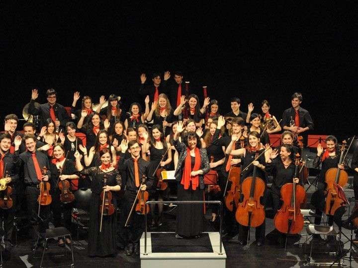
<svg viewBox="0 0 358 268"><path fill-rule="evenodd" d="M296 154L295 174L298 178L300 156ZM281 188L281 200L283 201L280 209L277 210L273 222L276 229L285 234L298 234L302 231L304 221L300 207L305 200L306 192L301 185L295 182L286 183Z"/></svg>

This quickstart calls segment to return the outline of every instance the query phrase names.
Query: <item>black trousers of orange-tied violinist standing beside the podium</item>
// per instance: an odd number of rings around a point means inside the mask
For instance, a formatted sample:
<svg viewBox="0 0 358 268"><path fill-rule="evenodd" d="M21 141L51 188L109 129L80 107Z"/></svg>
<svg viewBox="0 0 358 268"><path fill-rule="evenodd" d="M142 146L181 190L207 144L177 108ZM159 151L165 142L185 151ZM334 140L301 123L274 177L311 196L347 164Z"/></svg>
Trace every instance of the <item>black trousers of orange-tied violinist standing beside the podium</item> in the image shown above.
<svg viewBox="0 0 358 268"><path fill-rule="evenodd" d="M144 231L144 216L137 214L135 211L132 212L130 217L130 225L125 227L125 223L132 208L133 202L135 201L136 195L137 194L135 192L126 191L124 193L123 201L121 202L121 215L119 219L118 236L121 243L123 243L123 246L131 243L139 243L139 240Z"/></svg>

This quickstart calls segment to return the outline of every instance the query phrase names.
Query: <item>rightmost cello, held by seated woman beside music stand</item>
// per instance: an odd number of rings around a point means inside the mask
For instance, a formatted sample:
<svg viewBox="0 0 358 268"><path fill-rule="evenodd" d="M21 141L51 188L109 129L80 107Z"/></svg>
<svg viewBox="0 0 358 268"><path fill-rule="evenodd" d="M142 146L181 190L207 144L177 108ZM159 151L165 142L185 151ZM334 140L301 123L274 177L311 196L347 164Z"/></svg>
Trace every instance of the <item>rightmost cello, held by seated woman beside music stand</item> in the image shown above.
<svg viewBox="0 0 358 268"><path fill-rule="evenodd" d="M344 160L343 156L344 156L346 143L347 142L345 140L342 142L339 165L341 165ZM325 180L327 184L327 188L326 188L327 197L326 197L324 212L327 215L333 216L337 208L341 206L346 206L346 201L344 201L338 196L338 193L336 192L336 189L334 187L334 183L340 185L342 188L345 187L348 182L348 173L347 171L341 170L338 167L330 168L326 172Z"/></svg>

